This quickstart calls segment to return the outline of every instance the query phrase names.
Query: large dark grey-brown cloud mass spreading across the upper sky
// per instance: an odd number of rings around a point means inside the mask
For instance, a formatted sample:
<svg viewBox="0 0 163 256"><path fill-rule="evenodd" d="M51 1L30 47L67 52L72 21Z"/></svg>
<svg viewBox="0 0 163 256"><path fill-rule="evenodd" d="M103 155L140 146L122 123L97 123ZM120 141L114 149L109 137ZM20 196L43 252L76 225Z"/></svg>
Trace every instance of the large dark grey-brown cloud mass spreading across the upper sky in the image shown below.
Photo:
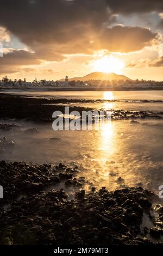
<svg viewBox="0 0 163 256"><path fill-rule="evenodd" d="M65 54L137 51L152 44L157 34L148 28L110 27L116 13L161 11L162 1L117 0L1 0L0 26L7 28L35 53L14 51L0 65L60 61Z"/></svg>

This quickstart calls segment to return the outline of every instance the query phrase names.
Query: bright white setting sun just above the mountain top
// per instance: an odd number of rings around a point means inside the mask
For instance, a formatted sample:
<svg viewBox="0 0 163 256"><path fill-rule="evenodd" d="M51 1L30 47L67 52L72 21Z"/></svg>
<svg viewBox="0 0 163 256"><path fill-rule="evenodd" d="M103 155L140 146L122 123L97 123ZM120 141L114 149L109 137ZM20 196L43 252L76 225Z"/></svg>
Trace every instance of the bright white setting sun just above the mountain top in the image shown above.
<svg viewBox="0 0 163 256"><path fill-rule="evenodd" d="M124 63L114 56L104 56L101 59L97 59L93 66L94 71L121 74Z"/></svg>

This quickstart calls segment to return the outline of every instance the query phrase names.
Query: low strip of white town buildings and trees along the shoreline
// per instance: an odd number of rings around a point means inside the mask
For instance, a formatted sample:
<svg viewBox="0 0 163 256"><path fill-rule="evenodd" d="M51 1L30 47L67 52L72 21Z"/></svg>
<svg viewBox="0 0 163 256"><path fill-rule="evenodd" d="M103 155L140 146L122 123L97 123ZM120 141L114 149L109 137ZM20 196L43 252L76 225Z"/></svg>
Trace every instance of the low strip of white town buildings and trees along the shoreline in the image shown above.
<svg viewBox="0 0 163 256"><path fill-rule="evenodd" d="M33 82L27 82L26 78L23 80L15 79L14 81L9 79L8 76L5 76L0 80L1 88L87 88L87 89L117 89L117 90L138 90L138 89L155 89L162 90L163 89L163 81L154 81L154 80L68 80L68 76L63 80L37 80L35 77Z"/></svg>

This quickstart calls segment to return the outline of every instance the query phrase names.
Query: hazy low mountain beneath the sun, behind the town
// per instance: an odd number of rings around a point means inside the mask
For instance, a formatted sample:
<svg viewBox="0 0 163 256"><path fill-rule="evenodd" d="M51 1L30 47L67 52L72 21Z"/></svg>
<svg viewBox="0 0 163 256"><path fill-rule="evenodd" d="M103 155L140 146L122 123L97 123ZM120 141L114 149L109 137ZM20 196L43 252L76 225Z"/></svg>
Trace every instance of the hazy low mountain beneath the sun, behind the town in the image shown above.
<svg viewBox="0 0 163 256"><path fill-rule="evenodd" d="M61 79L60 81L64 81L65 79ZM93 72L91 74L88 74L86 76L83 77L73 77L73 78L69 78L69 81L73 81L73 80L80 80L80 81L89 81L89 80L108 80L108 81L112 81L112 80L131 80L130 78L128 78L127 76L123 76L123 75L117 75L115 73L103 73L103 72Z"/></svg>

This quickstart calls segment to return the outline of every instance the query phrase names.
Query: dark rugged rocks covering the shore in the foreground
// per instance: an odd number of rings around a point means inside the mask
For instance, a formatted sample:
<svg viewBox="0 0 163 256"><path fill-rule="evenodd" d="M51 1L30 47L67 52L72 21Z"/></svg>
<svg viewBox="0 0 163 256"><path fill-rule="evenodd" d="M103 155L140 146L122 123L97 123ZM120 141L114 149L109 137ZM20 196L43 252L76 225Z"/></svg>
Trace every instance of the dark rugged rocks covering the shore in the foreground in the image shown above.
<svg viewBox="0 0 163 256"><path fill-rule="evenodd" d="M77 172L77 167L61 163L1 161L0 244L153 245L151 239L161 244L163 207L156 205L157 215L151 215L154 193L141 187L114 192L92 187L86 193L86 181L77 179ZM78 192L70 200L63 189L53 189L56 184L76 187ZM145 215L153 227L140 228Z"/></svg>

